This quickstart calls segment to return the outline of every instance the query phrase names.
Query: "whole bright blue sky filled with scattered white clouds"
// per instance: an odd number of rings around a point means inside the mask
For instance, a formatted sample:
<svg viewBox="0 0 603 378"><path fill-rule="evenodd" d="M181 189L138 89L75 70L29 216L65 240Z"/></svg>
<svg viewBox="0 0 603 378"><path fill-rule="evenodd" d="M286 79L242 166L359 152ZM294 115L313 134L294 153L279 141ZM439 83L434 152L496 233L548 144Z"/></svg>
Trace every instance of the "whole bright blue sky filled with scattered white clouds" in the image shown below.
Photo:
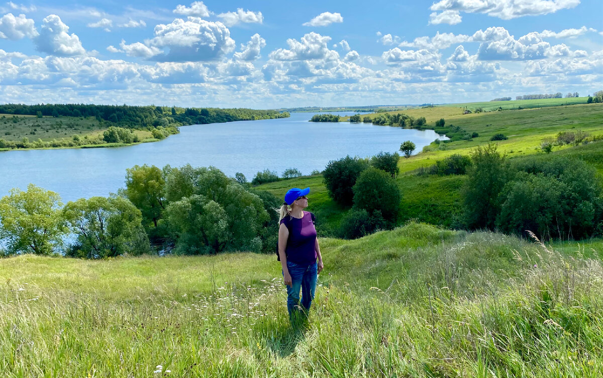
<svg viewBox="0 0 603 378"><path fill-rule="evenodd" d="M0 103L264 109L598 90L601 0L0 2Z"/></svg>

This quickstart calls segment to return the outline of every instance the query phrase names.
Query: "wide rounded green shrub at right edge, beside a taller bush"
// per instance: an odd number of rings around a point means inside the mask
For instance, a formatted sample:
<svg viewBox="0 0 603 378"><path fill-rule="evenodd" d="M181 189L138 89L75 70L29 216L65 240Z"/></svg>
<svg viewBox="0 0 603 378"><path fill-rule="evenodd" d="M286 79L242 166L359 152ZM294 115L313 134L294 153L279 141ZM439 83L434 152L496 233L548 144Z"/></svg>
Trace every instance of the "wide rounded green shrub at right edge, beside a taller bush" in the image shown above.
<svg viewBox="0 0 603 378"><path fill-rule="evenodd" d="M592 235L602 216L601 183L584 161L541 155L516 163L520 172L505 185L497 226L505 232L530 230L541 238Z"/></svg>

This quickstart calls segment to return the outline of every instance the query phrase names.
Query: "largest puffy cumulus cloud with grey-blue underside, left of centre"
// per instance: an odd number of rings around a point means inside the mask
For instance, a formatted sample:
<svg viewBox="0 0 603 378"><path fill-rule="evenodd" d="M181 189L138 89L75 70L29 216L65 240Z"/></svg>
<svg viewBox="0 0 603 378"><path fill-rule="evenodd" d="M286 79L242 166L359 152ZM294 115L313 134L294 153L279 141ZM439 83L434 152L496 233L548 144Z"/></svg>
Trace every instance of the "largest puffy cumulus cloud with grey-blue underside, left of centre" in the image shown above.
<svg viewBox="0 0 603 378"><path fill-rule="evenodd" d="M235 41L223 23L199 17L175 19L167 25L160 23L155 26L154 34L153 39L145 40L145 45L169 49L155 56L160 61L217 60L235 49Z"/></svg>

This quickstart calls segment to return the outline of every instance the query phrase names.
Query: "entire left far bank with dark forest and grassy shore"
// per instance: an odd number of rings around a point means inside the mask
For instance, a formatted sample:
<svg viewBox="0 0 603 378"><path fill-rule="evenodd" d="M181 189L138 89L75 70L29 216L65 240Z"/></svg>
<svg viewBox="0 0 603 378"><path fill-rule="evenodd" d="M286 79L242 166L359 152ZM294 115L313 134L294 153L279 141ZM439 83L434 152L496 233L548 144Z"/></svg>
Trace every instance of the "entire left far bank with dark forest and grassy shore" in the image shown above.
<svg viewBox="0 0 603 378"><path fill-rule="evenodd" d="M0 105L0 150L120 147L159 141L178 126L289 117L246 108L128 105Z"/></svg>

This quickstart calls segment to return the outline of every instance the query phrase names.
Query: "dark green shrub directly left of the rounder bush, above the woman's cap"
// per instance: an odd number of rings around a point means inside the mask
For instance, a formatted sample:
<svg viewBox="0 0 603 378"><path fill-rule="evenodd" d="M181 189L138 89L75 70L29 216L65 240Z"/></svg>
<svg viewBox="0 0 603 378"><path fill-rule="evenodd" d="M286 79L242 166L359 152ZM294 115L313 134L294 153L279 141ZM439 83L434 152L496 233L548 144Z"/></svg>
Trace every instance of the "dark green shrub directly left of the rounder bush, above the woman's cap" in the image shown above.
<svg viewBox="0 0 603 378"><path fill-rule="evenodd" d="M352 205L354 199L353 186L356 179L367 169L368 161L349 155L339 160L331 160L324 169L323 182L327 193L340 205Z"/></svg>

